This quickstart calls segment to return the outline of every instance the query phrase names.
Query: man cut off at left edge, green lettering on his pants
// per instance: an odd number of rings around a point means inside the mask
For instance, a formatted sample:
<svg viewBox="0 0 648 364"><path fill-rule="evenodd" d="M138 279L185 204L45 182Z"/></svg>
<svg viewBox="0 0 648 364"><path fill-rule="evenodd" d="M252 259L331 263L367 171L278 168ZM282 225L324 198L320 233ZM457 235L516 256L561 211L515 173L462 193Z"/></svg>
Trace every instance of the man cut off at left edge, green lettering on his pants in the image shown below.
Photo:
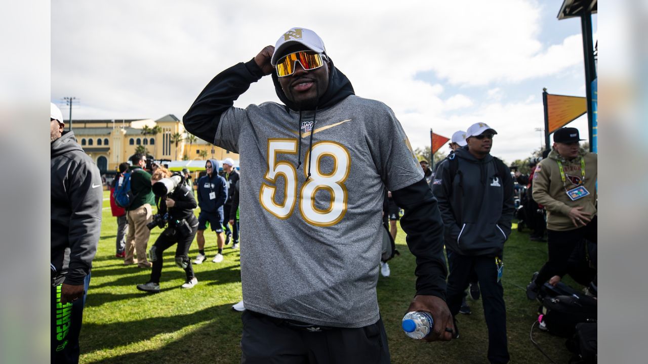
<svg viewBox="0 0 648 364"><path fill-rule="evenodd" d="M78 363L103 194L97 166L64 126L60 109L51 104L51 361Z"/></svg>

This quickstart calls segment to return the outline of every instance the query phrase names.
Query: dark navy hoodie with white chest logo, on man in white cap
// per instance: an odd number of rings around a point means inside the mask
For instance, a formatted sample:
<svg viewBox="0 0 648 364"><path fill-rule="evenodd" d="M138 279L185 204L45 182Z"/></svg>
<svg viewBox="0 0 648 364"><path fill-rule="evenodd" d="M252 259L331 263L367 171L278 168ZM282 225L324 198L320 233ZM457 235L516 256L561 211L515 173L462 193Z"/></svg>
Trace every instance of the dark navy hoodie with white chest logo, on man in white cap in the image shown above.
<svg viewBox="0 0 648 364"><path fill-rule="evenodd" d="M461 255L500 255L511 234L513 178L499 176L496 163L501 162L490 154L477 159L466 147L454 155L457 174L450 176L446 159L432 185L445 225L446 248Z"/></svg>

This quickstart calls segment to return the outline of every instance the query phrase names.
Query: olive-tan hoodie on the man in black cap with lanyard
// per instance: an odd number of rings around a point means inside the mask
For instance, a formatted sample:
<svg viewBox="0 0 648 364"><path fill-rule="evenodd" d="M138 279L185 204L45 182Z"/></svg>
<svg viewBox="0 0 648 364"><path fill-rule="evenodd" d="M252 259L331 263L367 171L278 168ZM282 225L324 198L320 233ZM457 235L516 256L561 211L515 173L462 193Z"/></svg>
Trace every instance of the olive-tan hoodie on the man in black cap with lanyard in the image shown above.
<svg viewBox="0 0 648 364"><path fill-rule="evenodd" d="M585 161L584 187L590 192L588 196L576 201L567 196L566 189L577 187L581 182L581 157ZM566 161L558 152L551 150L546 159L542 159L533 174L533 199L547 210L547 229L554 231L568 231L576 229L569 211L574 207L582 206L583 212L596 216L596 181L597 181L597 155L586 152L581 148L578 157ZM561 171L558 161L562 163L565 174L565 183L562 183Z"/></svg>

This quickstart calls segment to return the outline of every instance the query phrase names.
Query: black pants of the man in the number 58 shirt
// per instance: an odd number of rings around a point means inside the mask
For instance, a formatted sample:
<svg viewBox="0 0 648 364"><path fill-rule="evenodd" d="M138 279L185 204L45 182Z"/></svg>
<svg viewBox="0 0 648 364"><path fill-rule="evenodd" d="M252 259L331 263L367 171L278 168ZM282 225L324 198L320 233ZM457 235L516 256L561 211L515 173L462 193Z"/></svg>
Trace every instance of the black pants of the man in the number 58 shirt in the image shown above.
<svg viewBox="0 0 648 364"><path fill-rule="evenodd" d="M241 363L390 363L382 319L362 328L308 332L246 310L241 317Z"/></svg>

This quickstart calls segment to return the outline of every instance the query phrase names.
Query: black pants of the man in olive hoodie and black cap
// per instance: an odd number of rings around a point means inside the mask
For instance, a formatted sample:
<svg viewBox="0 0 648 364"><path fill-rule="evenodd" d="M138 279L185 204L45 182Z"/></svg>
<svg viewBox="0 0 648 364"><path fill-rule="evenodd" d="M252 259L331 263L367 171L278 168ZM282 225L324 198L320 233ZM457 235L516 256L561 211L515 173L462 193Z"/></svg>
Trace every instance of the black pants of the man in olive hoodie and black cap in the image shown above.
<svg viewBox="0 0 648 364"><path fill-rule="evenodd" d="M583 227L568 231L547 230L549 260L542 266L535 283L542 286L544 282L555 275L563 277L570 271L570 256L581 240L587 239L597 243L597 218Z"/></svg>

